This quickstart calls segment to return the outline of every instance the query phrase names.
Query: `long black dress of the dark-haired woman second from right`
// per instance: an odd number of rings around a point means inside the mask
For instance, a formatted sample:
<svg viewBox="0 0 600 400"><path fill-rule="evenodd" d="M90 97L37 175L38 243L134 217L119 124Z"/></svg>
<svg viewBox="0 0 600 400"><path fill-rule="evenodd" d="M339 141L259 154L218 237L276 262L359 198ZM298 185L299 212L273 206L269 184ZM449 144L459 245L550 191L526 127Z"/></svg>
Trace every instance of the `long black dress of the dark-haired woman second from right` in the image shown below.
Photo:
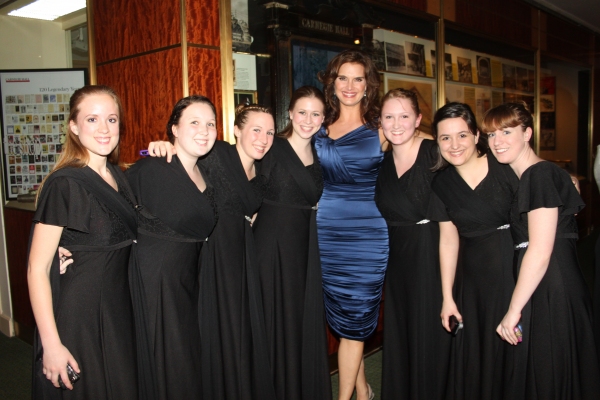
<svg viewBox="0 0 600 400"><path fill-rule="evenodd" d="M487 155L487 176L475 189L452 166L433 181L460 235L454 300L464 329L454 338L447 399L496 399L509 393L512 352L496 328L515 285L509 212L517 176Z"/></svg>

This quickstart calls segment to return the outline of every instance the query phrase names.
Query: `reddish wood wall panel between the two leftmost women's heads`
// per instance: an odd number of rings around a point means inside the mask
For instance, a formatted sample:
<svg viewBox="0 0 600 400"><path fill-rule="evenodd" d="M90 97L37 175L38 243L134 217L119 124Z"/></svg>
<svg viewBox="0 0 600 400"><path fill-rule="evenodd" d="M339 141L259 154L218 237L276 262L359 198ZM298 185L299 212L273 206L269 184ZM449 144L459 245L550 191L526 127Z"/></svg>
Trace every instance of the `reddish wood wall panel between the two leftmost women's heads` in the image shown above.
<svg viewBox="0 0 600 400"><path fill-rule="evenodd" d="M121 161L134 162L149 142L167 139L167 119L183 94L181 48L98 66L98 83L113 87L121 98Z"/></svg>

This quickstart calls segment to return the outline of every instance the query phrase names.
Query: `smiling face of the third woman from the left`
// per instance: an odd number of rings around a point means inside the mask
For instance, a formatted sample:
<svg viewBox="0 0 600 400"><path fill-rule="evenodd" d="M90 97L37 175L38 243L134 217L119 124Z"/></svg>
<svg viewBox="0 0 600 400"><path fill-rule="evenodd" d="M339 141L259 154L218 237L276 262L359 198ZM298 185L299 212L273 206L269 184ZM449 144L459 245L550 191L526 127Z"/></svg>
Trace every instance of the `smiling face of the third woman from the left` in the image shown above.
<svg viewBox="0 0 600 400"><path fill-rule="evenodd" d="M234 132L240 157L248 161L260 160L273 144L275 122L271 114L252 111L244 126L241 129L235 126Z"/></svg>

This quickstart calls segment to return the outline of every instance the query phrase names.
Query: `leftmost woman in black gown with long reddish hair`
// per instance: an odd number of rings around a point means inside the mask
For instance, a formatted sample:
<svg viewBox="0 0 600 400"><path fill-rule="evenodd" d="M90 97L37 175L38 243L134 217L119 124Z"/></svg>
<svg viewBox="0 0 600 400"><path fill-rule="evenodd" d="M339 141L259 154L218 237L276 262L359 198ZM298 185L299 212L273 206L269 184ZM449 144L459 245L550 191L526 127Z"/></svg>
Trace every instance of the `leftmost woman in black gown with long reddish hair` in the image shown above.
<svg viewBox="0 0 600 400"><path fill-rule="evenodd" d="M85 86L69 106L65 149L40 188L29 247L33 398L137 399L127 276L137 227L118 166L121 102L111 88ZM59 245L77 260L62 276Z"/></svg>

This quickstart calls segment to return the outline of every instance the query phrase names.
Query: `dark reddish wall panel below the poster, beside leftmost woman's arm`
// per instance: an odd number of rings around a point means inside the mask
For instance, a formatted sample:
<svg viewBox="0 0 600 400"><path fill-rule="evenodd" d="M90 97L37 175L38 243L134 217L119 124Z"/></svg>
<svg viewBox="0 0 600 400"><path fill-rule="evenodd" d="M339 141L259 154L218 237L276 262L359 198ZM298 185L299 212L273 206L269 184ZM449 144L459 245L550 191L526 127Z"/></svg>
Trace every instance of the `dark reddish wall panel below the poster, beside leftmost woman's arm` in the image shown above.
<svg viewBox="0 0 600 400"><path fill-rule="evenodd" d="M33 212L4 208L4 228L6 235L6 258L10 276L13 318L21 326L35 327L33 311L29 301L27 286L27 245L31 230ZM22 338L31 341L32 338Z"/></svg>

